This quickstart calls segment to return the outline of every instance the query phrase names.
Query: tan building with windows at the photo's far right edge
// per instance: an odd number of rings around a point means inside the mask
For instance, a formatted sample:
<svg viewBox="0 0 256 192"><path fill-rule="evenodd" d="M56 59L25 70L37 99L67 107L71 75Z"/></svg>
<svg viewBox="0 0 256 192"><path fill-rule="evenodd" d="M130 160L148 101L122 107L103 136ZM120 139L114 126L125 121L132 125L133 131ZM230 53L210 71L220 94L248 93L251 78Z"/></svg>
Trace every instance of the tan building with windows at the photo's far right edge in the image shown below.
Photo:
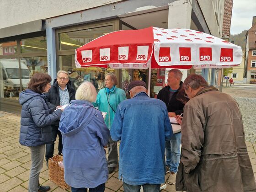
<svg viewBox="0 0 256 192"><path fill-rule="evenodd" d="M245 77L246 83L256 84L256 16L252 18L252 27L246 32Z"/></svg>

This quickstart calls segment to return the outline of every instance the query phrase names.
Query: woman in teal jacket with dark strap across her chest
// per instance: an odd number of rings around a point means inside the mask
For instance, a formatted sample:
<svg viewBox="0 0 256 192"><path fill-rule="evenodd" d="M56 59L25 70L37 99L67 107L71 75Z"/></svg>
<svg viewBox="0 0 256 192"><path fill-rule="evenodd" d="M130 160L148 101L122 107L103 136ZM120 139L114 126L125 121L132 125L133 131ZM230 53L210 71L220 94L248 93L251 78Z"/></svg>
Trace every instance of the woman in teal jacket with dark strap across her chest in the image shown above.
<svg viewBox="0 0 256 192"><path fill-rule="evenodd" d="M105 89L101 89L97 95L94 107L98 107L101 112L107 112L105 123L107 128L111 128L118 104L126 99L126 94L123 89L116 87L117 77L113 73L108 73L105 76ZM108 173L112 173L118 164L117 142L111 138L107 143L108 149Z"/></svg>

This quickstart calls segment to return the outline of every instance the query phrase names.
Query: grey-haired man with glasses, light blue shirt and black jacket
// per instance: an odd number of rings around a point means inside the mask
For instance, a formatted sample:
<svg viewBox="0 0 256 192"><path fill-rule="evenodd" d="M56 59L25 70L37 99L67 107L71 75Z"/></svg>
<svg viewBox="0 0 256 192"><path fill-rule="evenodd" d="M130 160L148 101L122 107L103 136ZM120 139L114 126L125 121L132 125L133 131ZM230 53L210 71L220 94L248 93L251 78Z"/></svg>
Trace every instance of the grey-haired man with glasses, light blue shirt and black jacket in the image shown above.
<svg viewBox="0 0 256 192"><path fill-rule="evenodd" d="M48 99L49 108L63 106L69 104L71 100L75 100L75 89L71 87L69 74L67 71L59 70L57 79L53 81L53 85L48 93L45 94ZM53 106L54 105L54 106ZM55 109L55 107L53 109ZM56 141L57 134L59 135L59 155L62 154L62 135L58 130L59 120L51 124L52 143L46 144L45 159L48 166L48 160L53 157L54 142Z"/></svg>

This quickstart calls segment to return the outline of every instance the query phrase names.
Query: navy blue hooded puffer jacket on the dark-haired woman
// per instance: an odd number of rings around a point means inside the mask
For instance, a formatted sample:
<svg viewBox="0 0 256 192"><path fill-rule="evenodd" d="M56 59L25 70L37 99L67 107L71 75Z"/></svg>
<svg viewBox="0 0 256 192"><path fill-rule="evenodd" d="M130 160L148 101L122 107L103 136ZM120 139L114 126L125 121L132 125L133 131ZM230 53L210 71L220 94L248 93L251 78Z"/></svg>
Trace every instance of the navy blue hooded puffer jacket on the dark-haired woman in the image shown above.
<svg viewBox="0 0 256 192"><path fill-rule="evenodd" d="M20 144L39 146L51 143L50 124L58 120L62 111L50 114L44 94L30 89L22 91L19 98L21 108Z"/></svg>

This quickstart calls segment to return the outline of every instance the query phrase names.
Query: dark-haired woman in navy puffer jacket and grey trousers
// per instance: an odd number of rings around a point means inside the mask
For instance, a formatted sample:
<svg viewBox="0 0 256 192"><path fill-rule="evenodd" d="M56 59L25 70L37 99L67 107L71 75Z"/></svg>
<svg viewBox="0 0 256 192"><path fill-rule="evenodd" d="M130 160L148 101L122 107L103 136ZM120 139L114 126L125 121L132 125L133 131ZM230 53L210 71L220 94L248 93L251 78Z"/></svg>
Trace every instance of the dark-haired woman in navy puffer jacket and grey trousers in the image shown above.
<svg viewBox="0 0 256 192"><path fill-rule="evenodd" d="M58 120L62 110L50 114L44 92L51 87L51 76L36 73L28 84L28 89L20 93L21 131L20 144L28 146L31 151L31 168L28 182L29 192L46 192L49 186L39 185L39 174L43 168L45 144L51 143L50 125Z"/></svg>

